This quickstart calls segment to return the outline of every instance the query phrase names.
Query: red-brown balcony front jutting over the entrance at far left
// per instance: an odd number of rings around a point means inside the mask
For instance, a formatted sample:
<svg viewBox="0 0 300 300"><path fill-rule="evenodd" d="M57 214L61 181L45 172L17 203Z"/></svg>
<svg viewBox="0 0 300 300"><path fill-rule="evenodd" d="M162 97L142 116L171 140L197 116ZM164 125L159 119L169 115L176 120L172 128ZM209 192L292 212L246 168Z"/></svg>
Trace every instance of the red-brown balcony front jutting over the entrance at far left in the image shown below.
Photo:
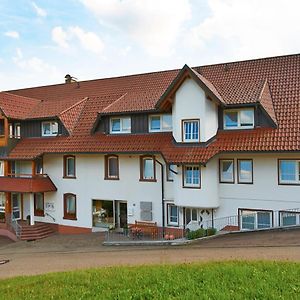
<svg viewBox="0 0 300 300"><path fill-rule="evenodd" d="M47 174L8 174L0 177L0 192L43 193L56 190Z"/></svg>

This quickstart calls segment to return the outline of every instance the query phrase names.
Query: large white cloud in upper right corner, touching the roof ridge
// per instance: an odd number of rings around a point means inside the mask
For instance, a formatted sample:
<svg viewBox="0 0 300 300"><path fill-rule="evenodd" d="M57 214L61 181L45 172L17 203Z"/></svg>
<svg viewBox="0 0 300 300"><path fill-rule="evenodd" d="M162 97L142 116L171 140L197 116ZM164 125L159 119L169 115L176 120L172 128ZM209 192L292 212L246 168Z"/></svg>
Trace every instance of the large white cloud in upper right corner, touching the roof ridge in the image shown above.
<svg viewBox="0 0 300 300"><path fill-rule="evenodd" d="M192 47L218 45L236 58L298 52L298 0L209 0L211 14L188 35Z"/></svg>

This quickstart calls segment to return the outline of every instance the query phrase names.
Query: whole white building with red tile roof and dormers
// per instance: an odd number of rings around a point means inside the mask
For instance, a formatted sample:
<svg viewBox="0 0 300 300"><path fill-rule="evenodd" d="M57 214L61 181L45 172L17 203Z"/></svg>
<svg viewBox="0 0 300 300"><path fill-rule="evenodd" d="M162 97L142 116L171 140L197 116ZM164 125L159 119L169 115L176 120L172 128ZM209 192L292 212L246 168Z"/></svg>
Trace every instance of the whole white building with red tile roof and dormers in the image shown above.
<svg viewBox="0 0 300 300"><path fill-rule="evenodd" d="M0 93L3 222L299 224L299 65L291 55Z"/></svg>

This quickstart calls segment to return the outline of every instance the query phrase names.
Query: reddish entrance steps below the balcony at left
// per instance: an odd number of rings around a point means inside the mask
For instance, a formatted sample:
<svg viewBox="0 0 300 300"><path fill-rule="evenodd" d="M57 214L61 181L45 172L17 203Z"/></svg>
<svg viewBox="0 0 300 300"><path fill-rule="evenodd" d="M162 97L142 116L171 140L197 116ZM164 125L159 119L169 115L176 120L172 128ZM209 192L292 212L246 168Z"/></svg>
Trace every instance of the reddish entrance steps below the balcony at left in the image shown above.
<svg viewBox="0 0 300 300"><path fill-rule="evenodd" d="M54 230L46 223L36 223L35 225L21 225L20 239L33 241L46 238L54 233Z"/></svg>

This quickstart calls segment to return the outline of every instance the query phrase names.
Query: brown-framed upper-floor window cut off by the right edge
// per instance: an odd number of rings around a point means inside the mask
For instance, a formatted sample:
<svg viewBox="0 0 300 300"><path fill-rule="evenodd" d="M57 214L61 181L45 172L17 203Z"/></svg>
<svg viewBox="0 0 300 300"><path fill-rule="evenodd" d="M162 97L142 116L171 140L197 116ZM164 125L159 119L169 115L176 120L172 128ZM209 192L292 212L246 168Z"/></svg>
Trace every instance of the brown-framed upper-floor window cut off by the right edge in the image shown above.
<svg viewBox="0 0 300 300"><path fill-rule="evenodd" d="M300 184L300 160L279 160L279 184Z"/></svg>

